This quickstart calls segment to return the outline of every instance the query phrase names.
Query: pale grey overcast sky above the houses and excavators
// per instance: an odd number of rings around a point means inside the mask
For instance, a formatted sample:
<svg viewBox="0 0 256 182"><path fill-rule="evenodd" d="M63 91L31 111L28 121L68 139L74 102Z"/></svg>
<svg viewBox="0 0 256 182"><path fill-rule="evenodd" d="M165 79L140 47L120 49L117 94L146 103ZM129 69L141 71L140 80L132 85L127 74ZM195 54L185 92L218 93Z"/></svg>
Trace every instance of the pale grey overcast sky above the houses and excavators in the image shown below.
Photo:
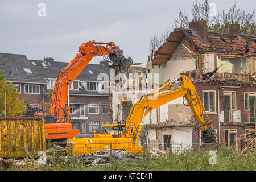
<svg viewBox="0 0 256 182"><path fill-rule="evenodd" d="M125 56L146 66L151 36L172 30L179 8L189 13L192 2L2 0L0 52L24 54L35 60L51 56L55 61L69 62L81 43L96 40L114 42L123 49ZM221 12L228 10L235 1L209 2L215 3L217 12ZM39 3L46 5L46 16L38 15L42 10ZM237 2L237 6L247 12L253 11L255 5L255 0ZM90 63L98 61L93 59Z"/></svg>

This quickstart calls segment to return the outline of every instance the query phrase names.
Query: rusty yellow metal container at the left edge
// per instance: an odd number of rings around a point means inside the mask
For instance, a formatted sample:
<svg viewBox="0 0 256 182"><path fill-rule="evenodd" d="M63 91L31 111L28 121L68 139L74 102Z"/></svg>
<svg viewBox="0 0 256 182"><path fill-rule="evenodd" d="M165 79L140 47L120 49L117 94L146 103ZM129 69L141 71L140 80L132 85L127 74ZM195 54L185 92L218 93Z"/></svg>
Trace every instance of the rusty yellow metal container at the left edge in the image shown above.
<svg viewBox="0 0 256 182"><path fill-rule="evenodd" d="M24 148L34 158L46 151L44 118L0 118L0 158L25 158Z"/></svg>

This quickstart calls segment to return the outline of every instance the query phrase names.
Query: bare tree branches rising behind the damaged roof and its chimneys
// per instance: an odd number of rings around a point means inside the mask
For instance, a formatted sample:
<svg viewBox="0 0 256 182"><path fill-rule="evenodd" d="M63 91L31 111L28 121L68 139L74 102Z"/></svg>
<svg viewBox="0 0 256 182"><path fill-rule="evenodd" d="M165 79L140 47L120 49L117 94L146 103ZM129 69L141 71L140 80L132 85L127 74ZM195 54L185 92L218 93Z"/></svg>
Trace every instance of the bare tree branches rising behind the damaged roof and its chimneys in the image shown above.
<svg viewBox="0 0 256 182"><path fill-rule="evenodd" d="M212 14L212 9L208 0L200 3L197 0L193 2L191 7L191 15L186 13L186 10L181 11L177 18L174 19L172 28L189 28L189 22L191 20L205 20L207 24L207 30L213 32L224 32L229 33L229 25L232 23L239 23L242 35L253 35L255 36L255 23L254 23L254 10L250 13L246 13L245 10L237 8L236 3L232 5L228 11L223 10L222 13L217 15ZM150 39L150 53L155 52L160 46L166 42L170 31L167 34L164 33L160 37L153 36Z"/></svg>

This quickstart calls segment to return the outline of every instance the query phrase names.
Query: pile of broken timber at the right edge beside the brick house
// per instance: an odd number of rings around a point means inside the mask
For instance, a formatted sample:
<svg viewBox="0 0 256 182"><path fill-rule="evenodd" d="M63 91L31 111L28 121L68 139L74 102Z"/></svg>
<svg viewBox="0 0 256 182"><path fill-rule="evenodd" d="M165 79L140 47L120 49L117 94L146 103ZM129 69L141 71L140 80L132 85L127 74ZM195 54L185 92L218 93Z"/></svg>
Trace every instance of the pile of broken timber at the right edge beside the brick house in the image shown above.
<svg viewBox="0 0 256 182"><path fill-rule="evenodd" d="M256 154L256 134L255 130L251 130L249 133L240 135L241 138L238 138L237 140L241 140L242 142L246 143L245 148L242 149L241 154Z"/></svg>

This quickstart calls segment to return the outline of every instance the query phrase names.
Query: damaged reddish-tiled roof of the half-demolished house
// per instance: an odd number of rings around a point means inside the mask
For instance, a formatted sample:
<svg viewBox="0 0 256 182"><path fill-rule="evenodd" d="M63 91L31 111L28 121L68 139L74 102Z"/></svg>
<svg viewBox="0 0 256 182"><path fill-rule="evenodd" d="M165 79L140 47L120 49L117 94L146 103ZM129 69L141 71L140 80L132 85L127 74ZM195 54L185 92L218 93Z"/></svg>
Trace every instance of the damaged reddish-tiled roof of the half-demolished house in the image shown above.
<svg viewBox="0 0 256 182"><path fill-rule="evenodd" d="M224 34L218 32L206 32L207 40L203 42L199 36L189 29L175 28L166 42L154 53L153 65L163 65L170 59L172 53L181 43L184 37L187 37L191 46L195 46L195 53L244 53L246 45L249 46L249 53L256 52L255 36L236 36L234 34ZM191 50L192 51L192 50Z"/></svg>

